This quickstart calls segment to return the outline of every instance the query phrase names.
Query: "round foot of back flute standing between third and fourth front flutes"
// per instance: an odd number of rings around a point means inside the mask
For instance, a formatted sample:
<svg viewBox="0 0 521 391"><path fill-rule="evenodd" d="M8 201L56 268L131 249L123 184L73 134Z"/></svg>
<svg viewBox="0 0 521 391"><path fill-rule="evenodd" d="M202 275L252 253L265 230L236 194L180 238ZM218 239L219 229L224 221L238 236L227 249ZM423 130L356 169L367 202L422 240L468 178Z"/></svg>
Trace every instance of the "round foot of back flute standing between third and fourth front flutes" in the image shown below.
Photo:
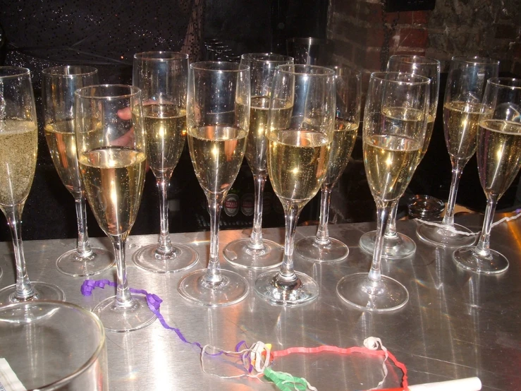
<svg viewBox="0 0 521 391"><path fill-rule="evenodd" d="M250 248L250 238L231 241L223 250L224 259L233 266L262 270L280 266L284 248L271 240L263 240L264 248Z"/></svg>

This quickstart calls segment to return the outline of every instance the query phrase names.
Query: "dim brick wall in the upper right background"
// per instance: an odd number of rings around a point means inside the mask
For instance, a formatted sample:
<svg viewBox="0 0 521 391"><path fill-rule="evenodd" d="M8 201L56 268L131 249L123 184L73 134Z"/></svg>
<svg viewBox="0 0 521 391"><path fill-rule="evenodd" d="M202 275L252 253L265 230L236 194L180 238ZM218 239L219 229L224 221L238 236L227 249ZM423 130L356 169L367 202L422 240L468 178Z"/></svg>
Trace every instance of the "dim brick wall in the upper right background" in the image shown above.
<svg viewBox="0 0 521 391"><path fill-rule="evenodd" d="M379 0L330 0L333 61L359 68L364 80L389 55L490 56L521 76L521 0L437 0L434 11L386 13Z"/></svg>

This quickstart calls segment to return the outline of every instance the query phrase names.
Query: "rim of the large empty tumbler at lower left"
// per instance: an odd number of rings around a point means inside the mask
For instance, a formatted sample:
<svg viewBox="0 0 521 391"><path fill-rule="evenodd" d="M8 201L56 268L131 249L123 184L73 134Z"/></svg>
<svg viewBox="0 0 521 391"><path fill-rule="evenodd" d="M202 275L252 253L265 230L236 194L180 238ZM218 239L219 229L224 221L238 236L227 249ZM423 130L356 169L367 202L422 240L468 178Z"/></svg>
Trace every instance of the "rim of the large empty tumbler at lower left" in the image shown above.
<svg viewBox="0 0 521 391"><path fill-rule="evenodd" d="M56 387L61 387L63 385L66 385L66 383L68 383L70 380L77 378L79 375L81 375L82 373L87 371L90 368L90 366L92 366L92 363L94 363L94 361L97 360L97 358L100 356L100 354L102 354L103 347L106 344L105 327L104 327L102 321L99 320L99 318L96 315L94 315L94 313L92 313L91 311L87 311L85 308L78 306L77 304L68 303L67 301L55 301L55 300L20 301L18 303L11 303L11 304L7 304L6 306L2 306L0 308L0 311L25 306L27 304L38 305L38 306L42 305L42 304L44 306L54 305L56 307L67 307L71 310L79 311L80 313L82 313L82 315L86 315L88 318L90 318L92 321L94 321L94 324L97 325L99 330L101 330L99 342L97 344L96 349L94 350L94 353L92 353L92 355L89 357L89 359L87 361L85 361L85 363L83 363L82 366L80 366L80 368L77 368L75 371L68 374L66 377L56 380L53 383L49 383L46 385L42 385L41 387L38 387L38 390L55 390ZM27 323L29 323L29 322L27 322Z"/></svg>

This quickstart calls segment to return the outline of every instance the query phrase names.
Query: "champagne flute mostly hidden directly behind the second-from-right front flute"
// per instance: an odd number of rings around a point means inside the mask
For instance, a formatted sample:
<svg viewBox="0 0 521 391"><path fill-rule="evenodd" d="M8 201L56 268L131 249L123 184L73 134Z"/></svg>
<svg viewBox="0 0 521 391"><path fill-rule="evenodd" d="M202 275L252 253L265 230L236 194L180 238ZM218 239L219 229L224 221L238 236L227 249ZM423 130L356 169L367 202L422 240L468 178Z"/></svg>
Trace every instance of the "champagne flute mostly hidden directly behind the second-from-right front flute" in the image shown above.
<svg viewBox="0 0 521 391"><path fill-rule="evenodd" d="M429 98L429 118L427 119L427 133L425 135L422 152L419 155L419 162L422 161L434 129L434 119L438 109L440 62L422 56L400 55L391 56L387 63L387 71L406 72L431 79L431 96ZM398 203L391 210L389 222L384 234L384 250L381 256L386 259L407 258L416 252L416 243L409 236L396 232L396 212ZM374 252L374 242L376 241L376 231L363 234L360 238L360 248L372 254Z"/></svg>

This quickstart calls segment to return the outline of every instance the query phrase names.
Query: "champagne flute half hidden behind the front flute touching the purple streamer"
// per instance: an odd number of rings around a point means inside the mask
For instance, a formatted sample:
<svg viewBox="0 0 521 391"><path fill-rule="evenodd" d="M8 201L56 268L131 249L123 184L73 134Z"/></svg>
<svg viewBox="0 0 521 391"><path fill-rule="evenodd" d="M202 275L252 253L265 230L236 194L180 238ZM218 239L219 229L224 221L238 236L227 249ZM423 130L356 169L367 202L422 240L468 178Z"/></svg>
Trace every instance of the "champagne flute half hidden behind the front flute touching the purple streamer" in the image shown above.
<svg viewBox="0 0 521 391"><path fill-rule="evenodd" d="M45 138L54 167L76 203L77 246L56 260L58 270L72 276L96 275L114 265L111 253L90 246L87 201L76 155L74 92L93 84L98 84L98 71L92 66L53 66L42 71Z"/></svg>

